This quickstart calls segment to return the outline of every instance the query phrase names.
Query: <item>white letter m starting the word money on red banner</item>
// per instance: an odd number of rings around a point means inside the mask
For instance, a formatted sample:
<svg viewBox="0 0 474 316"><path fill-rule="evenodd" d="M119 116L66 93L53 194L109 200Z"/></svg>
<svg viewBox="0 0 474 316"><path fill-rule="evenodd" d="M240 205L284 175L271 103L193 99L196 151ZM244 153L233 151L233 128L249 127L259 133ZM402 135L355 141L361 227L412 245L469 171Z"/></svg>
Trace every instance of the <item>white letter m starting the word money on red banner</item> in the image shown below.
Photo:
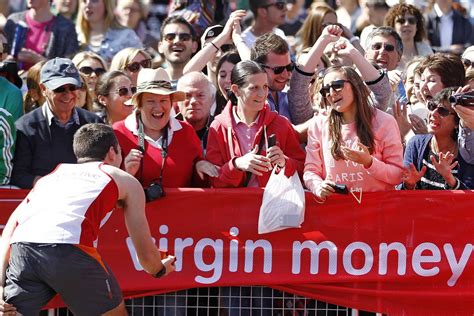
<svg viewBox="0 0 474 316"><path fill-rule="evenodd" d="M337 272L337 247L331 241L323 241L317 244L312 240L305 240L302 243L299 241L293 242L293 260L291 265L291 273L300 274L301 271L301 253L304 249L311 252L311 264L309 273L319 273L319 253L322 249L326 249L329 255L328 273L331 275Z"/></svg>

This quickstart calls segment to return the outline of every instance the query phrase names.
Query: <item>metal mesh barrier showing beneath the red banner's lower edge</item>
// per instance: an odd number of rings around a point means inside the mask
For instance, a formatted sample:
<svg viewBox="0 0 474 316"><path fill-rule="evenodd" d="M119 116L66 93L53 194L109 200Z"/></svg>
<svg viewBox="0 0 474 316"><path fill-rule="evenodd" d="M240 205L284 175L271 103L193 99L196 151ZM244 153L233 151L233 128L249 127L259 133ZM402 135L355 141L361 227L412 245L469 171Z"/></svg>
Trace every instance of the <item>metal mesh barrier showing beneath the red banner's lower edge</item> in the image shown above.
<svg viewBox="0 0 474 316"><path fill-rule="evenodd" d="M349 316L351 309L263 286L194 288L125 300L130 316ZM50 316L70 316L66 308Z"/></svg>

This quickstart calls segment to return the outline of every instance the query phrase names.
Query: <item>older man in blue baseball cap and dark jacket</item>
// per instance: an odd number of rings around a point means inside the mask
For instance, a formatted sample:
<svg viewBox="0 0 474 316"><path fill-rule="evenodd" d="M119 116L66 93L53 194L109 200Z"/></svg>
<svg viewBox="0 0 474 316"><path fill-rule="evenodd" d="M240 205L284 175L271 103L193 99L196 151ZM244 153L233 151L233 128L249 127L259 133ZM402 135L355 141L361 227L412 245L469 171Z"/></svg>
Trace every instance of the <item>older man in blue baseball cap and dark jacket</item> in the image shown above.
<svg viewBox="0 0 474 316"><path fill-rule="evenodd" d="M79 71L70 59L54 58L41 68L40 89L46 102L15 123L11 184L30 189L59 163L76 163L74 133L87 123L102 122L75 106L81 86Z"/></svg>

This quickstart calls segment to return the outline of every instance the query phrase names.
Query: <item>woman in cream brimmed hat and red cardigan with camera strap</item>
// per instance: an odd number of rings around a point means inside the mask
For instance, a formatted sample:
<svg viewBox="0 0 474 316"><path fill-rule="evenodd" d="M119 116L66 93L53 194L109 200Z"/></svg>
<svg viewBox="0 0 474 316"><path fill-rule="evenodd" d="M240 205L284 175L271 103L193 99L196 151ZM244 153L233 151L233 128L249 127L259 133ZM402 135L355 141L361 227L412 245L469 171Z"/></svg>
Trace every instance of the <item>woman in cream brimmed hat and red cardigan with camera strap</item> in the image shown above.
<svg viewBox="0 0 474 316"><path fill-rule="evenodd" d="M172 103L184 98L184 92L171 88L163 68L142 69L137 92L127 101L135 111L113 125L124 157L123 169L144 188L206 185L201 167L209 163L203 160L199 138L191 125L170 115Z"/></svg>

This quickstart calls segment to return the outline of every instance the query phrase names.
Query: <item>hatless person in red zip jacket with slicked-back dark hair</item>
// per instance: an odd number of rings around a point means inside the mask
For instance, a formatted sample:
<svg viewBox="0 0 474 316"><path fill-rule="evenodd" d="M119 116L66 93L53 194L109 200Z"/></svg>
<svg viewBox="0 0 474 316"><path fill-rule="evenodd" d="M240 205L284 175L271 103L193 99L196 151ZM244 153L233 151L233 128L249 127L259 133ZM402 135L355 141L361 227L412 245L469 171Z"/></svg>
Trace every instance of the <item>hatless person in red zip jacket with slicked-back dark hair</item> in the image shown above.
<svg viewBox="0 0 474 316"><path fill-rule="evenodd" d="M266 104L265 70L253 61L239 62L231 83L231 100L209 129L206 159L220 167L212 185L263 187L276 165L287 176L301 175L304 151L290 122ZM275 145L268 141L271 135Z"/></svg>

